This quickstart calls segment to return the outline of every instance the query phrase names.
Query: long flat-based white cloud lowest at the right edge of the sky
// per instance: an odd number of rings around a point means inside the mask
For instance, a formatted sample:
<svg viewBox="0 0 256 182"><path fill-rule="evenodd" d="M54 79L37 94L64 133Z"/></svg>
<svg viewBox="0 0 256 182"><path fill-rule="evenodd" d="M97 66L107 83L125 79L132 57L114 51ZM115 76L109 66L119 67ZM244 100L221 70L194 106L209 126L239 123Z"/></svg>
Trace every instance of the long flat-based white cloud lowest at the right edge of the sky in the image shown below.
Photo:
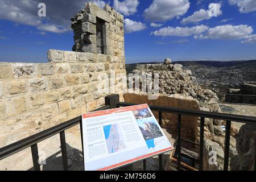
<svg viewBox="0 0 256 182"><path fill-rule="evenodd" d="M232 26L230 24L209 28L206 34L194 36L195 39L244 39L251 35L253 28L246 24Z"/></svg>

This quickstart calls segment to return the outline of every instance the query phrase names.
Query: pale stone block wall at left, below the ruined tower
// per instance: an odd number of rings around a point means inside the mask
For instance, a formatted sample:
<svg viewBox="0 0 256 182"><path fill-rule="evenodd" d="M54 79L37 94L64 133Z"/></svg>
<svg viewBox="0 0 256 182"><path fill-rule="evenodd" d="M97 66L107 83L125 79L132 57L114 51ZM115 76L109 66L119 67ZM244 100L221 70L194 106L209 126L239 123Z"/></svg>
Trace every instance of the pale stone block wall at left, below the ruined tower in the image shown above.
<svg viewBox="0 0 256 182"><path fill-rule="evenodd" d="M117 56L49 50L48 59L46 64L0 63L0 147L94 110L111 93L125 92L125 63ZM110 81L109 93L100 92Z"/></svg>

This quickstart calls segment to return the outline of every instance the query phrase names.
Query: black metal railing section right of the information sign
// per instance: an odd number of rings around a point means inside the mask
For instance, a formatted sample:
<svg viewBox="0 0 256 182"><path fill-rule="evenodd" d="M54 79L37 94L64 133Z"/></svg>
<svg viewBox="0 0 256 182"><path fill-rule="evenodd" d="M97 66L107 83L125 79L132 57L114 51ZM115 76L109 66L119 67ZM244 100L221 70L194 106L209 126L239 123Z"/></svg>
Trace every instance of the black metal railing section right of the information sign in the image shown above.
<svg viewBox="0 0 256 182"><path fill-rule="evenodd" d="M132 106L135 104L118 102L118 107L123 106ZM224 114L224 113L212 113L209 111L199 111L199 110L189 110L189 109L178 109L174 107L164 107L164 106L149 106L151 110L159 112L159 123L162 123L162 113L172 113L177 114L177 169L180 170L181 164L181 115L190 115L195 117L200 117L200 162L199 169L203 170L203 150L204 150L204 119L221 119L226 121L226 131L225 131L225 148L224 148L224 171L228 171L229 166L229 144L230 144L230 129L231 122L241 122L241 123L250 123L256 124L256 117L248 117L243 115L235 114ZM161 125L160 125L161 126ZM255 139L256 145L256 139ZM256 157L255 157L256 159ZM159 162L162 163L162 159L159 158ZM146 163L146 162L144 162ZM256 167L254 166L254 170Z"/></svg>

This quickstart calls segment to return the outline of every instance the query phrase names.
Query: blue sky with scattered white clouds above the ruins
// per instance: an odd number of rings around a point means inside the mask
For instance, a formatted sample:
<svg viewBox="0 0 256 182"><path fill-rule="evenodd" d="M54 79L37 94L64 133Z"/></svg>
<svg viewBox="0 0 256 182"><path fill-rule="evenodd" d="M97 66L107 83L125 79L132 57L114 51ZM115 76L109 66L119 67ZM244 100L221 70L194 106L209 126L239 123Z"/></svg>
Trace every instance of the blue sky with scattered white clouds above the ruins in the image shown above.
<svg viewBox="0 0 256 182"><path fill-rule="evenodd" d="M40 2L46 17L38 17ZM0 61L43 63L48 49L71 50L69 19L85 2L0 0ZM256 59L255 0L94 2L125 15L126 63Z"/></svg>

